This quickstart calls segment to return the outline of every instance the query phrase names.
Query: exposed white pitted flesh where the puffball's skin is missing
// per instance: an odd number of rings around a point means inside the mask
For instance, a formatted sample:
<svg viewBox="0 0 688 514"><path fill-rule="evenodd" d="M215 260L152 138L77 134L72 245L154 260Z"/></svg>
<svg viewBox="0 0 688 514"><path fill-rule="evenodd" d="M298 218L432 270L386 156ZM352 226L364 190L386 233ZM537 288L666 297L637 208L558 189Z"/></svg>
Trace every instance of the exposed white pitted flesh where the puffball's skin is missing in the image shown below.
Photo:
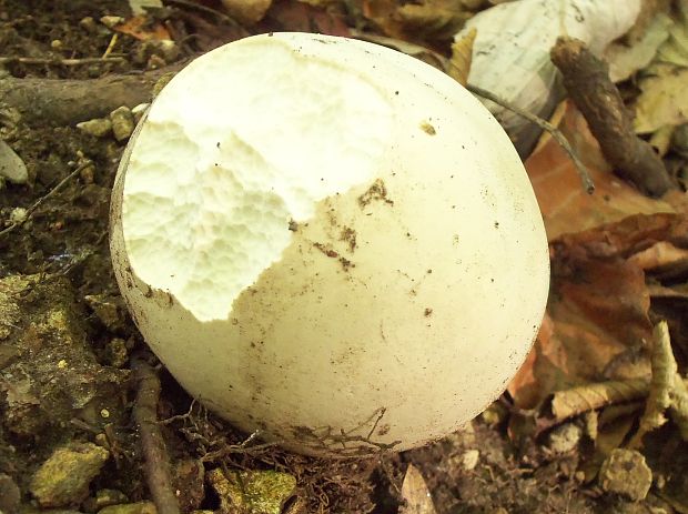
<svg viewBox="0 0 688 514"><path fill-rule="evenodd" d="M388 149L384 92L303 51L271 38L208 53L162 91L135 141L122 205L129 260L200 321L226 319L280 260L290 220L372 180Z"/></svg>

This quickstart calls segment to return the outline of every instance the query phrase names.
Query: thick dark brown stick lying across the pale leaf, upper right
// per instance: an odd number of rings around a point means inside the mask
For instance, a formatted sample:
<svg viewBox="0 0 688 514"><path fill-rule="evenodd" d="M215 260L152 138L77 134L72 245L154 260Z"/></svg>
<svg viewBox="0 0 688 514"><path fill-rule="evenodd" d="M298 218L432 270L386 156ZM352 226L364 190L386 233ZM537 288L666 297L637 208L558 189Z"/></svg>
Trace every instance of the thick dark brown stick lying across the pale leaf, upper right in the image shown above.
<svg viewBox="0 0 688 514"><path fill-rule="evenodd" d="M564 75L568 95L583 112L603 153L618 173L651 196L674 189L659 155L635 134L631 117L609 80L607 64L574 38L559 38L550 57Z"/></svg>

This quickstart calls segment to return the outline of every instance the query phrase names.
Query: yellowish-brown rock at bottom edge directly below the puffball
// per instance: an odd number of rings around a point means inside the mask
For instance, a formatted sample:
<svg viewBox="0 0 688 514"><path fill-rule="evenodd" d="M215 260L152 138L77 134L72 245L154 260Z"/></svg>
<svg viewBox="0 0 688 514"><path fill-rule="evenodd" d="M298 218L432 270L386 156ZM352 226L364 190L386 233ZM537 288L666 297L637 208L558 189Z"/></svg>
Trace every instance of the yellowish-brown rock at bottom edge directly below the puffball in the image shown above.
<svg viewBox="0 0 688 514"><path fill-rule="evenodd" d="M208 473L210 485L220 496L222 512L281 514L296 492L296 478L276 471L234 471Z"/></svg>

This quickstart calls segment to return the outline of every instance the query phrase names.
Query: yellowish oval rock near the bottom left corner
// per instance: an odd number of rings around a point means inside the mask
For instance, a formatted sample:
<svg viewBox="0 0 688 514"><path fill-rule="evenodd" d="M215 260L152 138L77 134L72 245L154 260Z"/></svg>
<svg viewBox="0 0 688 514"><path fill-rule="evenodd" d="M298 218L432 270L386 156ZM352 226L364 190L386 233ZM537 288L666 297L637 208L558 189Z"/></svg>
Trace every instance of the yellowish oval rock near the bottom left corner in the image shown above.
<svg viewBox="0 0 688 514"><path fill-rule="evenodd" d="M71 443L55 450L31 478L30 491L42 507L82 502L110 452L92 443Z"/></svg>

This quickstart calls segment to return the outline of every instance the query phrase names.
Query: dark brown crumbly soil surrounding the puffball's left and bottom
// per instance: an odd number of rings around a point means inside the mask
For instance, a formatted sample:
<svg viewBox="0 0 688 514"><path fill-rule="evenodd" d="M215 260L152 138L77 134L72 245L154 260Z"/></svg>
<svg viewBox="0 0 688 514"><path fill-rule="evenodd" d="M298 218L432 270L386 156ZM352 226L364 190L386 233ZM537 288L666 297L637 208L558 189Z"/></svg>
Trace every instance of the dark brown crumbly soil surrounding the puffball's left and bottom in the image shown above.
<svg viewBox="0 0 688 514"><path fill-rule="evenodd" d="M192 16L196 26L215 21L172 8L162 14L170 27L188 23ZM0 0L0 54L100 59L113 36L98 21L103 16L129 17L128 2ZM84 21L87 17L94 22ZM220 44L222 37L233 34L230 29L217 30L213 44ZM190 40L172 65L208 49L203 40ZM0 82L125 75L150 84L150 73L155 71L146 69L150 61L136 59L142 44L120 34L111 52L122 58L118 62L61 65L10 60L0 69ZM13 320L10 334L0 336L0 475L9 475L19 486L24 507L36 506L30 491L38 466L67 442L95 441L109 447L114 458L91 483L90 500L72 507L94 512L92 498L103 490L118 490L128 502L148 500L132 421L135 391L128 360L145 346L122 305L108 248L110 191L123 143L112 137L89 135L73 123L28 117L29 123L16 114L0 112L1 137L24 161L29 181L0 189L0 223L9 226L18 208L31 208L78 167L82 171L28 222L0 235L0 280L22 278L13 289L0 289L0 295L19 298L17 312L0 312L0 320ZM388 201L384 188L378 195ZM23 393L9 377L10 370L13 377L24 373L28 386ZM202 472L222 467L292 474L307 512L393 513L403 506L401 487L409 463L421 471L442 514L674 512L652 494L643 502L603 494L594 480L577 473L585 458L585 435L579 445L563 453L553 452L546 436L512 441L502 402L467 430L428 447L370 460L330 461L276 447L236 452L246 434L193 404L171 376L161 373L159 416L170 420L164 435L184 512L220 507ZM667 468L667 475L671 468L686 470L688 463L680 462L685 452L669 458L660 450L652 458ZM477 461L472 463L468 455L477 455ZM0 482L0 496L2 487Z"/></svg>

